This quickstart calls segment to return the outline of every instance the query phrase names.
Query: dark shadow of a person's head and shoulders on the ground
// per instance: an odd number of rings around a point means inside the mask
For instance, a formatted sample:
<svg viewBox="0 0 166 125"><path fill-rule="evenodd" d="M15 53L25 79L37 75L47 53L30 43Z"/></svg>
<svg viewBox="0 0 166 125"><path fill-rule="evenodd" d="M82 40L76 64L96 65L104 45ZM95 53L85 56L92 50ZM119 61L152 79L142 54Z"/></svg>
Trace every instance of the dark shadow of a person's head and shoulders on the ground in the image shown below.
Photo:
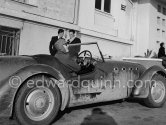
<svg viewBox="0 0 166 125"><path fill-rule="evenodd" d="M118 125L116 121L103 112L100 108L94 108L92 114L84 118L81 125Z"/></svg>

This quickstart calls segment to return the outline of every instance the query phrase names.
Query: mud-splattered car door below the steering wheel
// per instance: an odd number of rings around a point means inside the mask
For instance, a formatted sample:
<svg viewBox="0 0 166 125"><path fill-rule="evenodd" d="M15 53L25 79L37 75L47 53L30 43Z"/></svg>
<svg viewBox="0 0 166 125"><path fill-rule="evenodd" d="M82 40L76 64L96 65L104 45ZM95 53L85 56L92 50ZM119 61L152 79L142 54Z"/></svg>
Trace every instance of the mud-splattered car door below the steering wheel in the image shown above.
<svg viewBox="0 0 166 125"><path fill-rule="evenodd" d="M70 107L102 101L104 72L95 68L93 72L73 77L70 87ZM100 96L100 97L99 97Z"/></svg>

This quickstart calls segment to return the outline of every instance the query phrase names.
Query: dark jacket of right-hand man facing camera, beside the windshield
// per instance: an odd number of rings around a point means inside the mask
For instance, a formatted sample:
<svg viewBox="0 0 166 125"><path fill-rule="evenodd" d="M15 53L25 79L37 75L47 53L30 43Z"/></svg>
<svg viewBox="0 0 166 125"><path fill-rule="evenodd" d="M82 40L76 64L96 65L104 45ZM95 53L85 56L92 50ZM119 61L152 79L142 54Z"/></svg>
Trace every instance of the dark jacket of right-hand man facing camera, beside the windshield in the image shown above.
<svg viewBox="0 0 166 125"><path fill-rule="evenodd" d="M77 37L70 44L76 44L76 43L81 43L81 40ZM69 54L71 57L77 57L80 50L81 50L80 45L79 46L70 46L69 47Z"/></svg>

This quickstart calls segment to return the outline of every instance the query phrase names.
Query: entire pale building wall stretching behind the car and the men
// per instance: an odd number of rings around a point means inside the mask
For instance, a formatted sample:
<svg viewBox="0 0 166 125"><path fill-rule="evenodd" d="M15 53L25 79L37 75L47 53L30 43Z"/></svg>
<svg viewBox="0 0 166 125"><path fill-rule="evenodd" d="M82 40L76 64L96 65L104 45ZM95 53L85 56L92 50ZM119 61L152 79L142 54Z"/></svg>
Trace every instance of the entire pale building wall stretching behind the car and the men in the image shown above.
<svg viewBox="0 0 166 125"><path fill-rule="evenodd" d="M166 38L163 1L1 0L0 54L49 54L59 28L76 30L82 42L98 42L115 58L157 51Z"/></svg>

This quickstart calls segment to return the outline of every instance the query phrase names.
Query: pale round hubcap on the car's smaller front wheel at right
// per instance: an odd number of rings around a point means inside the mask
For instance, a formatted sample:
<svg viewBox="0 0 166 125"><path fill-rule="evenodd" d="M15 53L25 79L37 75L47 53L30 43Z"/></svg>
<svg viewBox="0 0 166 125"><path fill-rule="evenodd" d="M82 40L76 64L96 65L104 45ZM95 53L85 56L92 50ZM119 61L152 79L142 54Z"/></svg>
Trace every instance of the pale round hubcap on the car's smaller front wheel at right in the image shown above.
<svg viewBox="0 0 166 125"><path fill-rule="evenodd" d="M152 95L152 99L156 102L156 103L160 103L163 101L164 97L165 97L165 86L163 84L163 82L161 81L156 81L151 89L151 95Z"/></svg>

